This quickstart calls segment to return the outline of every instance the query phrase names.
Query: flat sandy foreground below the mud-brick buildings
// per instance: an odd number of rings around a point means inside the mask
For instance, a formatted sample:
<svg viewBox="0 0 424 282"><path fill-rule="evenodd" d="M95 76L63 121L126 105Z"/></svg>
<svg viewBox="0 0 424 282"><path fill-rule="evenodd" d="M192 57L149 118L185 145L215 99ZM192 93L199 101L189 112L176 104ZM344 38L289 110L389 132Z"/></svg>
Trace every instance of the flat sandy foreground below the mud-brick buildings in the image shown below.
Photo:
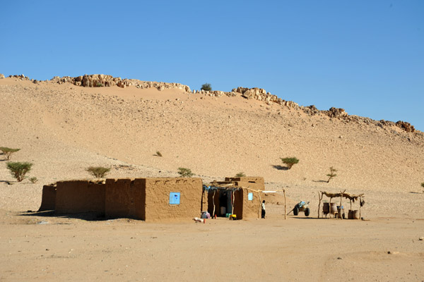
<svg viewBox="0 0 424 282"><path fill-rule="evenodd" d="M143 223L1 212L1 281L423 281L424 219ZM391 252L389 254L388 252Z"/></svg>

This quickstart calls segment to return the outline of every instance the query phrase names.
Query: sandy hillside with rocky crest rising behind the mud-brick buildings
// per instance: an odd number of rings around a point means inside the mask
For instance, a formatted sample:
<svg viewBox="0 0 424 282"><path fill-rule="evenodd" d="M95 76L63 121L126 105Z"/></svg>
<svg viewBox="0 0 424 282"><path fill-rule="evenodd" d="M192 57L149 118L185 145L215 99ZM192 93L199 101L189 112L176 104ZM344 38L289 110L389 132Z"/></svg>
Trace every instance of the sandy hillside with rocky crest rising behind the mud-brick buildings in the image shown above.
<svg viewBox="0 0 424 282"><path fill-rule="evenodd" d="M406 191L424 181L424 135L413 125L319 111L259 88L196 92L110 75L16 75L0 79L0 103L0 145L20 147L16 159L34 161L45 182L86 177L90 160L137 167L121 176L175 176L187 167L205 179L242 171L338 190ZM287 170L281 157L300 162ZM330 166L338 176L326 183Z"/></svg>

